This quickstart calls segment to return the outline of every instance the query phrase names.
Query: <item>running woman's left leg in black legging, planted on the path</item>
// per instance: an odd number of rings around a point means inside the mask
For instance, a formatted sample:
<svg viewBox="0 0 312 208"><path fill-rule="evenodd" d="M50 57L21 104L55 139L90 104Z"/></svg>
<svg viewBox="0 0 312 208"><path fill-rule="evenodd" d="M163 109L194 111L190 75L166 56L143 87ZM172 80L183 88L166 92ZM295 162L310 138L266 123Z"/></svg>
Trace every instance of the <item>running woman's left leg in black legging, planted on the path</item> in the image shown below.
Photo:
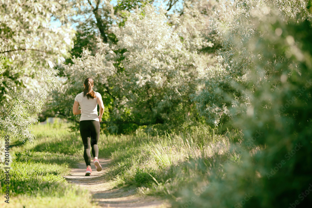
<svg viewBox="0 0 312 208"><path fill-rule="evenodd" d="M80 128L80 135L84 147L83 158L85 159L86 166L90 166L91 162L91 155L90 155L90 121L80 121L79 128Z"/></svg>

